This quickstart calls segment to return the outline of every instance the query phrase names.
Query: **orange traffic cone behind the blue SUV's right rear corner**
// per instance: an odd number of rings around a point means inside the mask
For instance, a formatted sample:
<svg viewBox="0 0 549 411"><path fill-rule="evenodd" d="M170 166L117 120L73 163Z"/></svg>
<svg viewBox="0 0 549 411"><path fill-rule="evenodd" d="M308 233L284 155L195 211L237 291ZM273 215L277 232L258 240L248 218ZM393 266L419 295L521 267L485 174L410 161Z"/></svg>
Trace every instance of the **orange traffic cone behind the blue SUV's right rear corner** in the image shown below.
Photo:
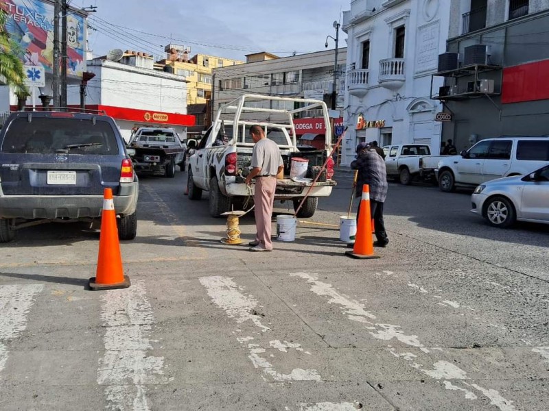
<svg viewBox="0 0 549 411"><path fill-rule="evenodd" d="M113 288L128 288L129 286L130 278L124 275L122 269L113 190L112 188L105 188L97 271L95 277L90 278L90 288L91 290L110 290Z"/></svg>

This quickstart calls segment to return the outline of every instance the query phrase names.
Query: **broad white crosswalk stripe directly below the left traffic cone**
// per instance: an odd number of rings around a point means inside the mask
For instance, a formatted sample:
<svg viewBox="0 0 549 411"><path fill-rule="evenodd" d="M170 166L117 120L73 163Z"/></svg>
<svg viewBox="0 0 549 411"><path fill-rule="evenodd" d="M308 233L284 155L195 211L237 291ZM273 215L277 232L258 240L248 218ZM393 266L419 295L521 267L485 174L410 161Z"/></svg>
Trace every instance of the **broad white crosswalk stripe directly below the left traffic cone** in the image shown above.
<svg viewBox="0 0 549 411"><path fill-rule="evenodd" d="M163 357L147 356L154 317L143 281L124 290L108 290L101 297L106 332L105 352L99 360L97 384L105 387L109 408L149 410L145 386L167 384Z"/></svg>

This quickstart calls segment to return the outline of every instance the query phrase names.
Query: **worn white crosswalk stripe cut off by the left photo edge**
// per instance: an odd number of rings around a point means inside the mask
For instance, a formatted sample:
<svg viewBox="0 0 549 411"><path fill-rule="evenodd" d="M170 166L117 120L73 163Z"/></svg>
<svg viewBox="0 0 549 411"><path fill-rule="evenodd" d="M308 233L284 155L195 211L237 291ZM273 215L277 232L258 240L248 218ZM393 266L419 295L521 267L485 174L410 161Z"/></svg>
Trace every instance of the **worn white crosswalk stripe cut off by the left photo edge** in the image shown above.
<svg viewBox="0 0 549 411"><path fill-rule="evenodd" d="M0 372L8 361L4 343L25 330L34 297L43 289L42 284L0 286Z"/></svg>

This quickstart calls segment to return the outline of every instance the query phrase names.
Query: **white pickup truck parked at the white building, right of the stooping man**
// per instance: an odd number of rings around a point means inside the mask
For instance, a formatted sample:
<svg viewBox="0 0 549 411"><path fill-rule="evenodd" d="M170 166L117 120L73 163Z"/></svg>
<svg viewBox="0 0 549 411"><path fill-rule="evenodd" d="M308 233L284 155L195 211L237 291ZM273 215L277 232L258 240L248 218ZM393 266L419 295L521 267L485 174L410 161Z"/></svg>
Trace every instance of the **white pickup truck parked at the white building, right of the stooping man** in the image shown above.
<svg viewBox="0 0 549 411"><path fill-rule="evenodd" d="M428 145L392 145L383 149L386 151L387 177L398 179L405 186L414 179L434 181L438 160L430 161L431 150Z"/></svg>

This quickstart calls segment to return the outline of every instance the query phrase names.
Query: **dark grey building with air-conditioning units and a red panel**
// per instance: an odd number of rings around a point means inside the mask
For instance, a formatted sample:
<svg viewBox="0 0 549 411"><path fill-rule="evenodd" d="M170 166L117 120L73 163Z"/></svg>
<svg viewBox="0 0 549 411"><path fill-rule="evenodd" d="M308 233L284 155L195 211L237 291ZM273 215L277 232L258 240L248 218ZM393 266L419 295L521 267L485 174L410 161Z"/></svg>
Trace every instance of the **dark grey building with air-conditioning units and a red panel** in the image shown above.
<svg viewBox="0 0 549 411"><path fill-rule="evenodd" d="M442 101L443 138L467 149L494 136L549 134L549 0L452 2Z"/></svg>

